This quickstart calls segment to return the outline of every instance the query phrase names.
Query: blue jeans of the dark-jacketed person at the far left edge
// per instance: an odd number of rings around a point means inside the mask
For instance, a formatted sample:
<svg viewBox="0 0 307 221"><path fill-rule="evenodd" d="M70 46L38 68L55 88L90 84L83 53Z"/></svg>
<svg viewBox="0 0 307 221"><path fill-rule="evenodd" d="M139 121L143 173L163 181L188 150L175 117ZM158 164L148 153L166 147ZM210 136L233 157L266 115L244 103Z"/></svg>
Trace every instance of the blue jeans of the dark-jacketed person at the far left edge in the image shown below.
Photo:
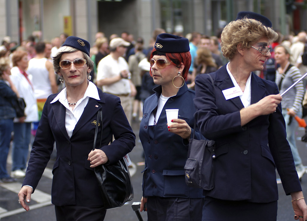
<svg viewBox="0 0 307 221"><path fill-rule="evenodd" d="M13 119L0 120L0 179L10 177L6 171L6 160L9 154Z"/></svg>

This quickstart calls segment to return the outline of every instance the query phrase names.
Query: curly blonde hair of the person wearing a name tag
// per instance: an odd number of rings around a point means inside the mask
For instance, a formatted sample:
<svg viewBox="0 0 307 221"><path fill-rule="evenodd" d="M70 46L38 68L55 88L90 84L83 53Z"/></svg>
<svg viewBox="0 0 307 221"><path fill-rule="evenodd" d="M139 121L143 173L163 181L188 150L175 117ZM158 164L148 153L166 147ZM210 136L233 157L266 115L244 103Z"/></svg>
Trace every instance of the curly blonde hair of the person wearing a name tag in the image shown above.
<svg viewBox="0 0 307 221"><path fill-rule="evenodd" d="M245 17L229 22L223 29L221 36L223 56L231 60L237 51L237 45L242 44L243 48L250 48L262 37L274 41L278 38L278 34L255 19Z"/></svg>

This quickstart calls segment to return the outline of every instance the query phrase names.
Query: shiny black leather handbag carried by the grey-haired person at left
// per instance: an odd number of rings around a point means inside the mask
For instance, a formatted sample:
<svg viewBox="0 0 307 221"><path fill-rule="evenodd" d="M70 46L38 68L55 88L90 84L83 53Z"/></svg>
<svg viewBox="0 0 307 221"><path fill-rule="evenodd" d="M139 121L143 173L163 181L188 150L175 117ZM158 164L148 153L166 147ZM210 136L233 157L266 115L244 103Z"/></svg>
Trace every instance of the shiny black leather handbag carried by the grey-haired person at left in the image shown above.
<svg viewBox="0 0 307 221"><path fill-rule="evenodd" d="M99 123L100 122L100 123ZM102 140L102 110L97 114L96 130L94 137L95 150L98 126L101 127L100 145ZM95 175L100 187L105 209L120 207L127 201L133 199L133 187L129 169L122 158L114 164L101 164L94 168Z"/></svg>

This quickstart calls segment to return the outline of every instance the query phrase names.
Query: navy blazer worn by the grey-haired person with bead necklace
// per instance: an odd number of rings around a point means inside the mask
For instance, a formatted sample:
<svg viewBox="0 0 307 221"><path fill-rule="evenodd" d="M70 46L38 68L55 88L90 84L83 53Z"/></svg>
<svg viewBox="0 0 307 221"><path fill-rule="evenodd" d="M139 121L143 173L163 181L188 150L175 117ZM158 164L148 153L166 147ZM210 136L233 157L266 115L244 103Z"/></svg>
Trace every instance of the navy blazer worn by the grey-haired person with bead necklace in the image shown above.
<svg viewBox="0 0 307 221"><path fill-rule="evenodd" d="M120 104L119 97L98 89L100 101L90 98L77 122L71 138L65 128L66 108L50 95L45 103L30 155L28 169L22 185L30 185L33 192L50 159L56 142L56 161L52 173L52 203L56 206L102 206L103 201L94 173L87 160L94 143L97 112L102 108L103 139L99 147L114 163L132 150L135 135ZM98 134L101 132L99 127ZM114 135L115 140L108 145ZM116 185L116 184L114 184Z"/></svg>

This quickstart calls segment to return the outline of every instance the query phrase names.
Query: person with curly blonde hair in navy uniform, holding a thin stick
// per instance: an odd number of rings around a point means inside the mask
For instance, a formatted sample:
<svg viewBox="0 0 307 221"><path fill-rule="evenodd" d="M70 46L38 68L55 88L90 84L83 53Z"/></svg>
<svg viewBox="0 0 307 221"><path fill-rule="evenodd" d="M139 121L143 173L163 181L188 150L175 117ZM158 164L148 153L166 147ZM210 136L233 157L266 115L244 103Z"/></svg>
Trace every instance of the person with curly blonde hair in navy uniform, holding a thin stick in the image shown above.
<svg viewBox="0 0 307 221"><path fill-rule="evenodd" d="M204 191L203 221L276 221L277 169L295 219L307 219L307 206L286 140L277 85L252 71L262 70L277 33L270 20L239 12L222 33L230 60L196 77L195 119L200 132L215 140L215 187ZM290 200L289 200L290 201ZM289 202L290 203L290 202Z"/></svg>

